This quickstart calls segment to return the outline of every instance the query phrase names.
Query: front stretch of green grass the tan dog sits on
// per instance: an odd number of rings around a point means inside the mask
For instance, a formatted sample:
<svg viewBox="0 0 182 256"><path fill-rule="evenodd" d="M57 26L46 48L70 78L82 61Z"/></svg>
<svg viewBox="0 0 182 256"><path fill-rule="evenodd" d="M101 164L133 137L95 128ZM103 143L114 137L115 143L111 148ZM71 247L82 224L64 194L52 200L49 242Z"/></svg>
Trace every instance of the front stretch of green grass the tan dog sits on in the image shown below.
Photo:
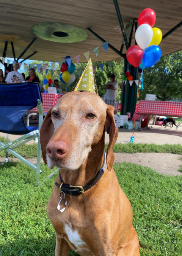
<svg viewBox="0 0 182 256"><path fill-rule="evenodd" d="M133 225L144 248L141 256L182 255L182 176L126 162L114 169L133 208ZM52 170L44 164L41 170L43 181ZM0 165L0 255L54 255L55 234L46 205L55 177L36 187L35 172L23 163Z"/></svg>

